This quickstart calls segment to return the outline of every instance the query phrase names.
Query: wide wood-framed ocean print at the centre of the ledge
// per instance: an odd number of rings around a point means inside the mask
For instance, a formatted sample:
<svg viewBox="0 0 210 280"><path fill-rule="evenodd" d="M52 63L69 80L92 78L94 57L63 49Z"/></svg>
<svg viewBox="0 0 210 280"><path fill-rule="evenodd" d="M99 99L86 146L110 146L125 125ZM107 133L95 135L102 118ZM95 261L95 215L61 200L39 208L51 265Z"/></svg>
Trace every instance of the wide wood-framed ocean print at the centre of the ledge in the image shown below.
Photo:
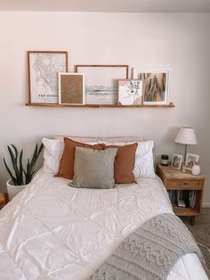
<svg viewBox="0 0 210 280"><path fill-rule="evenodd" d="M117 105L117 80L128 78L128 65L76 65L85 74L85 104Z"/></svg>

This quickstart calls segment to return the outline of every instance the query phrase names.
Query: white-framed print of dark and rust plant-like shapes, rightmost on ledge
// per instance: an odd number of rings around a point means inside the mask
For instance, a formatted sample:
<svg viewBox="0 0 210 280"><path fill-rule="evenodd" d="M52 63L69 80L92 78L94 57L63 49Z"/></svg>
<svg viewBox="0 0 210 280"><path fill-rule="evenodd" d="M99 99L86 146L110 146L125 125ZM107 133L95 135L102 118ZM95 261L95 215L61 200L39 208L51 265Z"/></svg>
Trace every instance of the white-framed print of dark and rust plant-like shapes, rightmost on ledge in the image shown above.
<svg viewBox="0 0 210 280"><path fill-rule="evenodd" d="M168 70L133 69L133 78L142 81L143 104L167 103L168 75Z"/></svg>

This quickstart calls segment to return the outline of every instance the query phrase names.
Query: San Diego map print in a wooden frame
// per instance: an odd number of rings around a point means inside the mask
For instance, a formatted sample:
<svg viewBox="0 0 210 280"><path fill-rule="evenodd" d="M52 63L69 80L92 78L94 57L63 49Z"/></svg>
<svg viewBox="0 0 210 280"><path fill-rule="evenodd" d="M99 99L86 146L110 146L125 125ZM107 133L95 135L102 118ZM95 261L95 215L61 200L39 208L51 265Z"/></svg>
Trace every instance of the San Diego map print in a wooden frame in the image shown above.
<svg viewBox="0 0 210 280"><path fill-rule="evenodd" d="M29 103L59 103L58 73L67 71L67 52L28 51Z"/></svg>

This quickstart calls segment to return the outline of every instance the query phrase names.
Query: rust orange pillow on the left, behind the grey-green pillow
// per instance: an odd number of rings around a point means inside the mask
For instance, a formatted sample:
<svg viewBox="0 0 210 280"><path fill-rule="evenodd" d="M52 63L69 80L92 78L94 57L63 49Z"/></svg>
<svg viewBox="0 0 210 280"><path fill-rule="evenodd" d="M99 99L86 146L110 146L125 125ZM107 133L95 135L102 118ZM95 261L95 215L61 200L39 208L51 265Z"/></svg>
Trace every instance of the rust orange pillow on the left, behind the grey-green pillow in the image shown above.
<svg viewBox="0 0 210 280"><path fill-rule="evenodd" d="M59 172L56 177L73 179L76 147L103 150L104 144L83 144L64 137L64 150L61 157Z"/></svg>

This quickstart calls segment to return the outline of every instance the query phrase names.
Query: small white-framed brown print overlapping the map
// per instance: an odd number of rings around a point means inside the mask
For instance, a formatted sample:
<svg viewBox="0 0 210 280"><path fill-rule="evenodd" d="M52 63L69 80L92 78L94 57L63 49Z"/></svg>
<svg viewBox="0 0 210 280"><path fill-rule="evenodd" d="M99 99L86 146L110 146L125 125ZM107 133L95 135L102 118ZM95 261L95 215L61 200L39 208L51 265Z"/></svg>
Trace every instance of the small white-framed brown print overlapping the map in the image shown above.
<svg viewBox="0 0 210 280"><path fill-rule="evenodd" d="M85 104L85 78L81 73L59 73L59 103Z"/></svg>

